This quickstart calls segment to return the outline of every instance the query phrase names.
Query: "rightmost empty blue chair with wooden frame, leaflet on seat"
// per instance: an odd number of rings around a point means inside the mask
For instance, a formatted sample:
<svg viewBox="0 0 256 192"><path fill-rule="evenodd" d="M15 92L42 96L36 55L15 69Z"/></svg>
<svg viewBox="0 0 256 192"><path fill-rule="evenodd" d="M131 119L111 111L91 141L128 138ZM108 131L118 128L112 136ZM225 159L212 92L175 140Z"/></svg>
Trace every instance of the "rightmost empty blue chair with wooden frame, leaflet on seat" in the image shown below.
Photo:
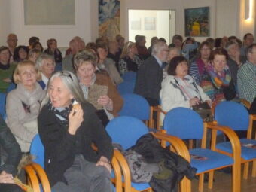
<svg viewBox="0 0 256 192"><path fill-rule="evenodd" d="M252 176L256 177L256 140L252 139L252 125L256 115L249 115L247 109L237 102L221 102L215 108L215 120L221 126L235 131L247 131L247 137L240 139L241 163L245 163L243 178L248 178L249 162L253 162ZM232 154L230 142L216 145L221 152Z"/></svg>

